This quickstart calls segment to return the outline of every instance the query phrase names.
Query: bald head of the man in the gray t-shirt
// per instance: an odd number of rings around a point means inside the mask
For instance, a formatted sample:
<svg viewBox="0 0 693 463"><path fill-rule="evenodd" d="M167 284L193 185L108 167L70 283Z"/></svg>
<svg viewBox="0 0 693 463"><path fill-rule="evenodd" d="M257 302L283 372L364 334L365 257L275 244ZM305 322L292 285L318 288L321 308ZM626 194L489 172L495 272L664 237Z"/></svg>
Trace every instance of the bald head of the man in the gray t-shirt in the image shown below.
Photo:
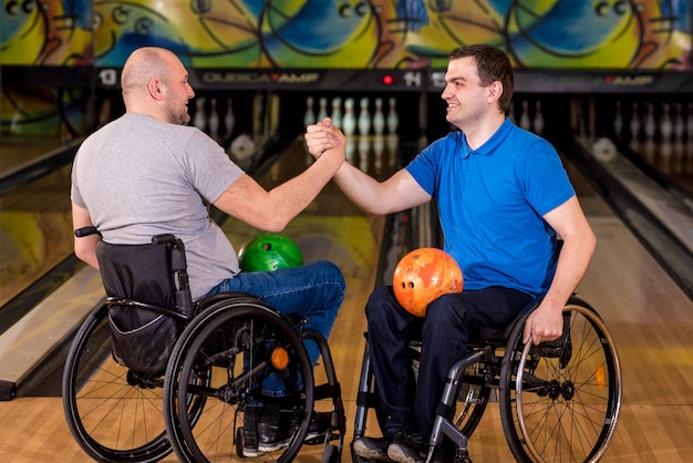
<svg viewBox="0 0 693 463"><path fill-rule="evenodd" d="M126 111L187 123L187 100L195 96L187 79L185 66L173 52L156 47L135 50L121 75Z"/></svg>

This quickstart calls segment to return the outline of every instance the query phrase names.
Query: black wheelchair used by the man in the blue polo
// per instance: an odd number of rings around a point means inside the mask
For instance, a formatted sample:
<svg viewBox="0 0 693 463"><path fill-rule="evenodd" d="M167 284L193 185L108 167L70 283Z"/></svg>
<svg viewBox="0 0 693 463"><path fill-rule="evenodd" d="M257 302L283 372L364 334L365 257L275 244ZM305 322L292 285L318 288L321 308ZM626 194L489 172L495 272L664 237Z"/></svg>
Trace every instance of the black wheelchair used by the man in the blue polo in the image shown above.
<svg viewBox="0 0 693 463"><path fill-rule="evenodd" d="M469 463L467 442L493 399L518 462L596 462L607 450L621 405L621 369L613 339L598 312L573 295L563 308L563 333L539 346L523 343L523 329L538 302L503 329L484 328L469 354L453 364L430 436L426 462L444 439L455 463ZM421 342L407 347L414 374ZM366 347L361 368L354 439L365 435L369 411L380 432L385 413ZM364 463L353 451L352 461Z"/></svg>

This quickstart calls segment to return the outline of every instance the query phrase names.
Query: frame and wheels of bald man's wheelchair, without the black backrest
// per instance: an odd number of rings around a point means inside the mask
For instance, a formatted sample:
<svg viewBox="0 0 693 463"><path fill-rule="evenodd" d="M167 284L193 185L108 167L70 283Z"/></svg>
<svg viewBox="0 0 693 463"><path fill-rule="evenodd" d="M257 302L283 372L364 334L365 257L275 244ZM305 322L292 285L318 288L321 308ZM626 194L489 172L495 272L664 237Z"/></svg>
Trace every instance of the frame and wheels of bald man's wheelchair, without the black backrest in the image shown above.
<svg viewBox="0 0 693 463"><path fill-rule="evenodd" d="M90 227L75 235L97 233ZM64 367L63 408L70 431L85 453L112 462L155 462L172 451L186 462L244 457L245 411L259 399L268 400L259 389L261 378L271 372L300 380L287 444L261 457L290 462L303 444L322 444L322 461L339 462L345 418L327 340L304 329L306 320L290 319L249 295L220 294L193 305L183 243L172 235L153 237L153 243L168 247L176 306L189 305L194 316L117 295L82 322ZM118 363L111 350L108 326L114 306L180 321L163 378ZM314 384L307 340L320 349L324 384ZM314 402L323 399L331 401L330 428L327 434L304 441Z"/></svg>

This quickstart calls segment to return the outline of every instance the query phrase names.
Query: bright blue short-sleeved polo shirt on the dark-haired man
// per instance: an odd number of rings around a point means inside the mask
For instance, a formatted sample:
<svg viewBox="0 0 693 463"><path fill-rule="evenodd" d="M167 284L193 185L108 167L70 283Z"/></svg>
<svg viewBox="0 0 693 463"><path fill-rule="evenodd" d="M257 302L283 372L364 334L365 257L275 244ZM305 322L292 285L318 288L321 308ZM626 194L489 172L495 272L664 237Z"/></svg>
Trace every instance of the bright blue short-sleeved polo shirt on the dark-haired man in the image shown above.
<svg viewBox="0 0 693 463"><path fill-rule="evenodd" d="M465 289L546 292L556 271L556 233L542 216L575 195L556 150L508 119L478 150L453 132L407 172L437 203L444 249Z"/></svg>

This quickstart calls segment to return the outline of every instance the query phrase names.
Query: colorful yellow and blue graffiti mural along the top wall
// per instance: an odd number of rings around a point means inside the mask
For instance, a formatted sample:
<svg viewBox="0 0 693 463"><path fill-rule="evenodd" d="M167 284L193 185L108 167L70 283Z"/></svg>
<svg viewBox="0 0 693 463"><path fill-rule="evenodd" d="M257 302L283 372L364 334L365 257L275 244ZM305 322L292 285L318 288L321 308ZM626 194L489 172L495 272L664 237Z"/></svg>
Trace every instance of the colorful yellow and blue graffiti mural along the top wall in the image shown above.
<svg viewBox="0 0 693 463"><path fill-rule="evenodd" d="M684 0L3 0L1 63L121 65L143 45L196 68L444 68L495 43L518 68L691 68Z"/></svg>

